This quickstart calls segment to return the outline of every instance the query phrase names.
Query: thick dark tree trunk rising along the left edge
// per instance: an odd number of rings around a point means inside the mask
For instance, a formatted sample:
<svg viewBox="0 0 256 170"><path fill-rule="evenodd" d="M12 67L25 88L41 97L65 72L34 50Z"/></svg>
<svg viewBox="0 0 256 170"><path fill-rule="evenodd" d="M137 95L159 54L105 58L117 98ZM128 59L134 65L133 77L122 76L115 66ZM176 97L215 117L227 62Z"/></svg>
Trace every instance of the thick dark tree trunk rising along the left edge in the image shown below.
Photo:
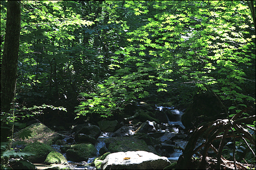
<svg viewBox="0 0 256 170"><path fill-rule="evenodd" d="M1 142L12 138L14 97L18 64L20 33L20 1L7 2L7 20L4 53L1 64ZM2 163L2 162L1 162Z"/></svg>

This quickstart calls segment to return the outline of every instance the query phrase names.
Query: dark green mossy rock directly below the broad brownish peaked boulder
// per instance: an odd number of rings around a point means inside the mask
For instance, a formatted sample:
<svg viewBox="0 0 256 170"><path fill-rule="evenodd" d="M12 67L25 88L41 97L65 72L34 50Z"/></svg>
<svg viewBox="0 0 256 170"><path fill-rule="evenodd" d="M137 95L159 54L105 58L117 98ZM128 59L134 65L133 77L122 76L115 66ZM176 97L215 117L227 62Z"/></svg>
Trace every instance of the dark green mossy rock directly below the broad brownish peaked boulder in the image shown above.
<svg viewBox="0 0 256 170"><path fill-rule="evenodd" d="M31 152L34 154L32 156L25 156L25 159L32 163L42 163L46 160L47 155L54 151L54 149L51 148L51 146L48 144L34 142L28 144L23 151Z"/></svg>

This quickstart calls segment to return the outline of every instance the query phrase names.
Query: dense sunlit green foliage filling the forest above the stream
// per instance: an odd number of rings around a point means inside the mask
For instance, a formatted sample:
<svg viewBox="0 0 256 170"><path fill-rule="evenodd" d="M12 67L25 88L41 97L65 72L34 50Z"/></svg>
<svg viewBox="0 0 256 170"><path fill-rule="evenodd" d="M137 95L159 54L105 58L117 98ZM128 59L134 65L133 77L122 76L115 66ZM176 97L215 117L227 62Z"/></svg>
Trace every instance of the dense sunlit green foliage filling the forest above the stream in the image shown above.
<svg viewBox="0 0 256 170"><path fill-rule="evenodd" d="M1 64L6 5L1 1ZM130 103L179 105L211 90L232 117L255 105L253 7L249 1L22 1L15 113L109 118L125 114Z"/></svg>

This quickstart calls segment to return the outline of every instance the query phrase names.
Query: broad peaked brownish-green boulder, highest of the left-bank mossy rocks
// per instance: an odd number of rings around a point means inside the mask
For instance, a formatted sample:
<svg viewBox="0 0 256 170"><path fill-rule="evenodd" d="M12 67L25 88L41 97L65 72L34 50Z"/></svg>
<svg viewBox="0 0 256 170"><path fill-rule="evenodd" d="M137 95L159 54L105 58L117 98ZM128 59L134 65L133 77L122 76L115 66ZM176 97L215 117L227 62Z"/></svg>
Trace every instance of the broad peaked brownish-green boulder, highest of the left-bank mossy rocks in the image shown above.
<svg viewBox="0 0 256 170"><path fill-rule="evenodd" d="M26 138L23 140L22 138L19 137L19 135L26 131L31 131L32 133L28 139ZM54 144L54 142L60 138L60 135L58 135L56 132L53 132L51 129L40 123L30 125L27 128L24 128L13 135L13 139L15 141L24 141L25 143L33 143L39 141L41 143L45 143L48 145Z"/></svg>

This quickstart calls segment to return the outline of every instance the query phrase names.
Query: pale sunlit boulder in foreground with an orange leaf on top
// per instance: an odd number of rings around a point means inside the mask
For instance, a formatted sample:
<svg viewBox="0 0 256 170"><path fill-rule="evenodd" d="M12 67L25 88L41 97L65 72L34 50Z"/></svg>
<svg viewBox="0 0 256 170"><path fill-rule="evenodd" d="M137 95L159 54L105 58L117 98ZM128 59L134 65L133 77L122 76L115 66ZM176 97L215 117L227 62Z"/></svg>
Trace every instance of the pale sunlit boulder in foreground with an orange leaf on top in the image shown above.
<svg viewBox="0 0 256 170"><path fill-rule="evenodd" d="M170 165L166 157L145 151L117 152L106 156L101 169L163 169Z"/></svg>

